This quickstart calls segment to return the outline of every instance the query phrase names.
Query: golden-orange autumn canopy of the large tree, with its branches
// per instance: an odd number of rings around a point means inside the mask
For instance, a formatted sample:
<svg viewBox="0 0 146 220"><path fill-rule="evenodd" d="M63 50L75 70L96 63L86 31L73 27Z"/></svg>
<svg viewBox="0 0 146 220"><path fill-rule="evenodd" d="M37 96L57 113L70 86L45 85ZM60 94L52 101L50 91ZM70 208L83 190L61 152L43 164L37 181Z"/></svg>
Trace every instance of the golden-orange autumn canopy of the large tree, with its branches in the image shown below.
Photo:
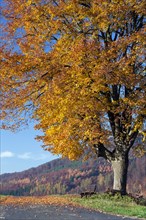
<svg viewBox="0 0 146 220"><path fill-rule="evenodd" d="M70 159L129 150L145 136L144 3L5 0L2 127L34 118L44 148Z"/></svg>

